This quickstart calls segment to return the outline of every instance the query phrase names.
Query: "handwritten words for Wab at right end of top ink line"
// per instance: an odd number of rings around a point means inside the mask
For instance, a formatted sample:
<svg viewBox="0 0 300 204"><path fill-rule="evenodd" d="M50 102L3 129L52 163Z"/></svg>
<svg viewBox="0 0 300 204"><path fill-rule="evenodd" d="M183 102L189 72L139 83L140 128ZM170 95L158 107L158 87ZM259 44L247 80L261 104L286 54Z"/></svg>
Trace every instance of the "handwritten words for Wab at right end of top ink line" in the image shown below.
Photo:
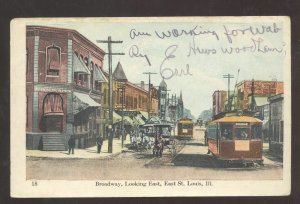
<svg viewBox="0 0 300 204"><path fill-rule="evenodd" d="M272 26L265 26L265 25L259 27L249 26L246 29L229 30L225 25L223 25L223 27L225 30L224 34L226 35L229 43L232 43L232 37L236 37L239 34L263 35L264 33L278 33L280 30L282 30L281 28L278 28L276 23L273 23Z"/></svg>

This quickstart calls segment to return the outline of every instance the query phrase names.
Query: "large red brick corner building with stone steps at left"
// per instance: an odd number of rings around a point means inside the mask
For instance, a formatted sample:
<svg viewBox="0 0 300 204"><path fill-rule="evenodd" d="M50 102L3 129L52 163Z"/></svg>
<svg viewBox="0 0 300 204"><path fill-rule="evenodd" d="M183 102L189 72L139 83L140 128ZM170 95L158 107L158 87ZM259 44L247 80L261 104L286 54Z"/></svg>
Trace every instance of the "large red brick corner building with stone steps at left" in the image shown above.
<svg viewBox="0 0 300 204"><path fill-rule="evenodd" d="M26 28L26 147L77 148L99 134L104 51L75 30Z"/></svg>

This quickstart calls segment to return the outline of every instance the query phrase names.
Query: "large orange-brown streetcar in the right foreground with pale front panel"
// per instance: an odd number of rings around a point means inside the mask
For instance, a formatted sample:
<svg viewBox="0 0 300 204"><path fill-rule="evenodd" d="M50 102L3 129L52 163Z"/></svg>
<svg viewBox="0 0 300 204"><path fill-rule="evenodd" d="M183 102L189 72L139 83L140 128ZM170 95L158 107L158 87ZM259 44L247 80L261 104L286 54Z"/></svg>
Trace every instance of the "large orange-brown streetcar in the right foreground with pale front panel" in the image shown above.
<svg viewBox="0 0 300 204"><path fill-rule="evenodd" d="M206 129L208 153L218 161L262 164L262 121L249 116L227 116L210 122Z"/></svg>

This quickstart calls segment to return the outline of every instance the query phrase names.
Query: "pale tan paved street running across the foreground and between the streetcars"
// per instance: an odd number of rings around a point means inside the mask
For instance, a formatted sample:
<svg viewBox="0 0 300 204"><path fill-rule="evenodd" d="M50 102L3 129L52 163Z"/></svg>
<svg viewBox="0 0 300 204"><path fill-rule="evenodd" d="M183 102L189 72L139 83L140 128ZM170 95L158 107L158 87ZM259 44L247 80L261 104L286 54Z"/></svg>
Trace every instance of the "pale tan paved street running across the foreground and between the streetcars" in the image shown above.
<svg viewBox="0 0 300 204"><path fill-rule="evenodd" d="M161 158L151 150L123 150L98 158L27 157L27 179L282 179L282 162L271 158L265 147L264 166L219 168L203 145L203 130L194 129L194 139L178 142L177 155L165 149Z"/></svg>

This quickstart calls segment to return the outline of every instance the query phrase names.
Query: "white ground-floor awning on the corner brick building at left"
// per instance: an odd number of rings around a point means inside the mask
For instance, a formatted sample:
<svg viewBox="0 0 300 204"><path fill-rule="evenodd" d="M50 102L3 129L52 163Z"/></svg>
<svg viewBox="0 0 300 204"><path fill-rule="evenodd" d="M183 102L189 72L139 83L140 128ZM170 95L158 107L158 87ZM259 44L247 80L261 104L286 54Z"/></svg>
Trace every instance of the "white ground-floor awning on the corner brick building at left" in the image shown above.
<svg viewBox="0 0 300 204"><path fill-rule="evenodd" d="M88 94L73 92L73 113L76 114L88 107L100 107Z"/></svg>

